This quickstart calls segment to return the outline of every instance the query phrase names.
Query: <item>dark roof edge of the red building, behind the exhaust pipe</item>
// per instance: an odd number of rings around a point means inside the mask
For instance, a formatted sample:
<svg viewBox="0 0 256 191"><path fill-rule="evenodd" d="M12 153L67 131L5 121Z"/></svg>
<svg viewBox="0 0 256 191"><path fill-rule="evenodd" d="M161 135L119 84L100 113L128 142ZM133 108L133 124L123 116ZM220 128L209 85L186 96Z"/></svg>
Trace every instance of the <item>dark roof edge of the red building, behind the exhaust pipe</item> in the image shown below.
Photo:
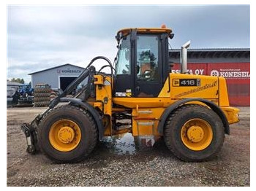
<svg viewBox="0 0 256 191"><path fill-rule="evenodd" d="M180 49L169 50L169 58L179 58ZM187 58L249 58L249 48L188 49Z"/></svg>

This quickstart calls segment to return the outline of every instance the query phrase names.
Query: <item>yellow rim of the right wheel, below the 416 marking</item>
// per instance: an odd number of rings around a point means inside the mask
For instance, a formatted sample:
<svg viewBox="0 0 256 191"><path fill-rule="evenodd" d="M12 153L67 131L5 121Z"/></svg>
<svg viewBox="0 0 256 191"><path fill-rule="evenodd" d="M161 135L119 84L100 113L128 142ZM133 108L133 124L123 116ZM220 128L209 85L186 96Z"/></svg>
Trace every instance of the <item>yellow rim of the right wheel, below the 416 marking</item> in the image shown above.
<svg viewBox="0 0 256 191"><path fill-rule="evenodd" d="M206 149L213 139L211 125L202 119L187 121L181 128L181 141L194 151Z"/></svg>

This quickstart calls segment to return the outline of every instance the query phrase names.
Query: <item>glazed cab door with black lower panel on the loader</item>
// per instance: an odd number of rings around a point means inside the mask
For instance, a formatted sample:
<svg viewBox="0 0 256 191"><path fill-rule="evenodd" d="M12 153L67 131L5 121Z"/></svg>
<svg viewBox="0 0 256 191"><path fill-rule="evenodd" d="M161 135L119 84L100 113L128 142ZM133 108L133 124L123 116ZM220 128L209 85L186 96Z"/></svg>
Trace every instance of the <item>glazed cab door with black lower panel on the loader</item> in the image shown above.
<svg viewBox="0 0 256 191"><path fill-rule="evenodd" d="M135 97L157 97L162 89L162 45L158 34L137 34Z"/></svg>

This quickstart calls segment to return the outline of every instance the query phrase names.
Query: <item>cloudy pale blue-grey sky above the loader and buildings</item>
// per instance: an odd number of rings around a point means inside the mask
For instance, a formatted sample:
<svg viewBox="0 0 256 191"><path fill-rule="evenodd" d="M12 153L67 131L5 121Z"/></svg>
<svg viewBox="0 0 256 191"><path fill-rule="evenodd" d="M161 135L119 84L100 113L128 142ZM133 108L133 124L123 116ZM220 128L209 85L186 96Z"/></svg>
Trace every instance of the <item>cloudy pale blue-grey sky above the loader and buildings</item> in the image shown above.
<svg viewBox="0 0 256 191"><path fill-rule="evenodd" d="M175 34L171 48L249 48L250 5L7 5L7 79L92 58L116 57L121 28L157 28ZM99 63L100 64L100 63Z"/></svg>

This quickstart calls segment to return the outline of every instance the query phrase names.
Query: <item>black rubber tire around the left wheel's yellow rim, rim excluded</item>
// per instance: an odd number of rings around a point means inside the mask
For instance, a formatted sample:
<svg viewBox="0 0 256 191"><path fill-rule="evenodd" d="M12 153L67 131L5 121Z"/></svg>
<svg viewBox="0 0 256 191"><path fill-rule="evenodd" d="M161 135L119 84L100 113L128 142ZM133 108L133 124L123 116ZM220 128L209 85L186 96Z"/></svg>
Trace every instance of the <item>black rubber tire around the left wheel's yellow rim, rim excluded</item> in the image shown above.
<svg viewBox="0 0 256 191"><path fill-rule="evenodd" d="M50 143L50 128L60 120L72 120L80 129L78 145L68 152L61 152ZM93 151L97 144L98 131L91 114L86 110L75 106L60 106L45 114L39 123L37 136L40 150L51 160L59 163L78 163Z"/></svg>

